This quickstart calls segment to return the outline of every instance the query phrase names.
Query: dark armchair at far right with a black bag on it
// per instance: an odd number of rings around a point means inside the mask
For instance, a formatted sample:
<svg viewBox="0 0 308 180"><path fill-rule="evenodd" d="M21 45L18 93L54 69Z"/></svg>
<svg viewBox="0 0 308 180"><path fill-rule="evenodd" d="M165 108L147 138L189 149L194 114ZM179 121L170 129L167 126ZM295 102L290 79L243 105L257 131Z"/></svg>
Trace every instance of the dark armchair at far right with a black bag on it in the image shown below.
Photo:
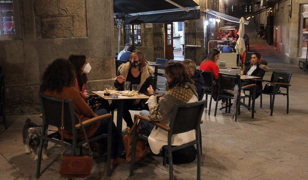
<svg viewBox="0 0 308 180"><path fill-rule="evenodd" d="M291 86L290 84L291 76L292 76L292 73L273 71L270 81L264 80L264 79L254 79L254 81L270 82L271 84L274 85L273 93L262 92L262 94L270 95L270 109L271 109L270 115L273 115L275 95L284 95L284 96L286 95L287 96L287 114L289 114L289 86ZM286 88L286 93L280 92L280 88ZM261 103L260 106L262 106L262 94L261 94L261 99L260 99L260 103Z"/></svg>

